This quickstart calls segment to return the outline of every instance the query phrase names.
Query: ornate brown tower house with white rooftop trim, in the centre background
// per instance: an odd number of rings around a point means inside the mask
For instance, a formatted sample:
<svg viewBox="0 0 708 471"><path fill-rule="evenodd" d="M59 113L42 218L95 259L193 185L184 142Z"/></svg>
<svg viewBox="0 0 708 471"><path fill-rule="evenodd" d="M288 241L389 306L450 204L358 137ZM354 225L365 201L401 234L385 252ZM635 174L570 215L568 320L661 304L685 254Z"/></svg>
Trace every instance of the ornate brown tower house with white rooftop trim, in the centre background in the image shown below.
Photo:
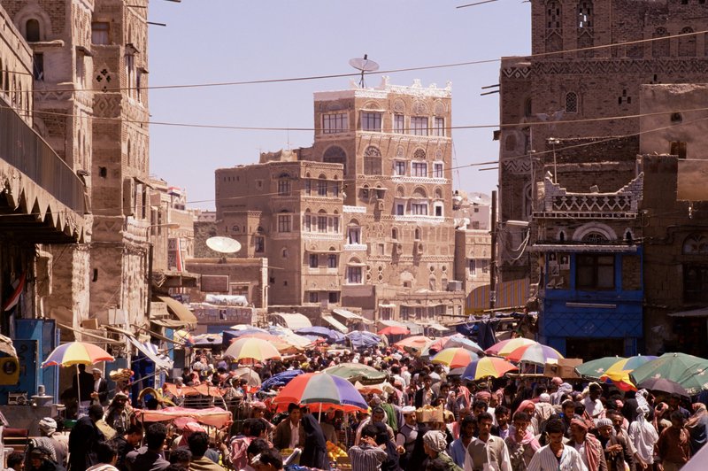
<svg viewBox="0 0 708 471"><path fill-rule="evenodd" d="M217 170L219 230L245 242L242 256L264 240L271 304L326 301L428 323L462 313L464 291L449 285L450 105L450 87L419 81L318 92L311 148Z"/></svg>

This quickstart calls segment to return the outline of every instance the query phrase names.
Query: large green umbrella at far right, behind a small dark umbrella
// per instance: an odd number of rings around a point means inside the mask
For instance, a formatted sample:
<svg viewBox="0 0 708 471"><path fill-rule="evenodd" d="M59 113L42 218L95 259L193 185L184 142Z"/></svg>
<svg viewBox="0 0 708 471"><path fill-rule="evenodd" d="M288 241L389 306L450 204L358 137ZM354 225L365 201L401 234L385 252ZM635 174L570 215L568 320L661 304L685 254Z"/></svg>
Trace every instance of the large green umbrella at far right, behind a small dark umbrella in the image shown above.
<svg viewBox="0 0 708 471"><path fill-rule="evenodd" d="M629 374L635 384L648 379L667 379L681 384L691 396L708 390L708 359L686 353L664 353Z"/></svg>

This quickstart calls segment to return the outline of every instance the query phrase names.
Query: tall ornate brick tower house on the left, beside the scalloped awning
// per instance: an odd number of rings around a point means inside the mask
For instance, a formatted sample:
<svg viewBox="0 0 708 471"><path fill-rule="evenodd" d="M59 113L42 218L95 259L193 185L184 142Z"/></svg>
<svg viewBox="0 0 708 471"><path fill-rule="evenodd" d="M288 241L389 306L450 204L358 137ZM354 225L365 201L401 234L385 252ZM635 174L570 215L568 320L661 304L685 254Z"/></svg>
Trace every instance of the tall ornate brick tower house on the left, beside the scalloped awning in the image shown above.
<svg viewBox="0 0 708 471"><path fill-rule="evenodd" d="M149 303L148 2L0 4L34 54L34 127L81 175L91 213L90 243L46 248L60 260L50 265L48 314L73 327L89 317L142 323Z"/></svg>

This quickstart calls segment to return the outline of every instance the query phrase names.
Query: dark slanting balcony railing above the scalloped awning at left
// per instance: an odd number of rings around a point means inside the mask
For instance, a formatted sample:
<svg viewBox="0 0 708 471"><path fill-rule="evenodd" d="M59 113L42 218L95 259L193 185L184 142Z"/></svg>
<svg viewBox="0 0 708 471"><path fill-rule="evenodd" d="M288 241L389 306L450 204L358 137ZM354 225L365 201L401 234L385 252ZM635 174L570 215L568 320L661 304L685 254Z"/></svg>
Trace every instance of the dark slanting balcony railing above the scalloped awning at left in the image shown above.
<svg viewBox="0 0 708 471"><path fill-rule="evenodd" d="M0 99L0 158L31 178L59 202L83 214L84 185L48 143Z"/></svg>

